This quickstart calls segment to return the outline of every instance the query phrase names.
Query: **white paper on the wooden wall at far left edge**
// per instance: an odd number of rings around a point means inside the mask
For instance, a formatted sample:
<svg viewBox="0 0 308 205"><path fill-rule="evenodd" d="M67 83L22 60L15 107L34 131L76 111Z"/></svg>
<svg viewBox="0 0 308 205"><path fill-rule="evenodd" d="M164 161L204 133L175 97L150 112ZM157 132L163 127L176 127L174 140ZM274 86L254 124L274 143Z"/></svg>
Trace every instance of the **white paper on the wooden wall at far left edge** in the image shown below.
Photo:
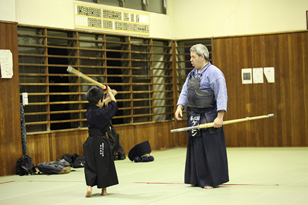
<svg viewBox="0 0 308 205"><path fill-rule="evenodd" d="M13 76L13 55L10 50L0 49L1 78L12 78Z"/></svg>

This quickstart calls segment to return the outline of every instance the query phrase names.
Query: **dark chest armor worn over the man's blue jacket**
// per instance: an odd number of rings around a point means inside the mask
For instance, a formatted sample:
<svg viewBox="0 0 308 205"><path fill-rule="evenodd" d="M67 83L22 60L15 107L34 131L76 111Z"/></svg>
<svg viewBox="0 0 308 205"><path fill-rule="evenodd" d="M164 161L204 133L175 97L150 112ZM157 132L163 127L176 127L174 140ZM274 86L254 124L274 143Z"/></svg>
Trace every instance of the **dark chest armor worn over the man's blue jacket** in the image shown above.
<svg viewBox="0 0 308 205"><path fill-rule="evenodd" d="M187 100L189 107L211 108L215 104L215 95L208 91L200 90L201 76L195 78L193 75L188 83Z"/></svg>

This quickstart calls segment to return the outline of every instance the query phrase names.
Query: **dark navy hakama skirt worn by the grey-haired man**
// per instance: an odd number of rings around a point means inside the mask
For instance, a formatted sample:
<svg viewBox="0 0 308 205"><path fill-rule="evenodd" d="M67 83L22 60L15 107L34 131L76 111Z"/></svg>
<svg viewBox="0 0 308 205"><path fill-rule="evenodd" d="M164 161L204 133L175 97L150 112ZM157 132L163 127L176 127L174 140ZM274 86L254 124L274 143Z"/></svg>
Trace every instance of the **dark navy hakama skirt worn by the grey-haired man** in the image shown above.
<svg viewBox="0 0 308 205"><path fill-rule="evenodd" d="M213 122L217 117L216 113L213 114L211 111L205 112L205 115L202 113L200 122ZM228 181L228 162L223 127L201 130L199 137L190 136L186 154L185 184L216 187Z"/></svg>

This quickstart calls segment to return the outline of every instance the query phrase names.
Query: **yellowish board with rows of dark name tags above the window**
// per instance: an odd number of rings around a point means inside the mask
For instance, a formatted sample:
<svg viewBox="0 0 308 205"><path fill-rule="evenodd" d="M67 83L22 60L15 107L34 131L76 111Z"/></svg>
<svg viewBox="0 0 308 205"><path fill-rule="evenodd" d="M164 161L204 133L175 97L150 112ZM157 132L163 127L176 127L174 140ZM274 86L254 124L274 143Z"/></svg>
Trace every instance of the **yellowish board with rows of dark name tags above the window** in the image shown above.
<svg viewBox="0 0 308 205"><path fill-rule="evenodd" d="M150 35L150 15L74 2L75 28Z"/></svg>

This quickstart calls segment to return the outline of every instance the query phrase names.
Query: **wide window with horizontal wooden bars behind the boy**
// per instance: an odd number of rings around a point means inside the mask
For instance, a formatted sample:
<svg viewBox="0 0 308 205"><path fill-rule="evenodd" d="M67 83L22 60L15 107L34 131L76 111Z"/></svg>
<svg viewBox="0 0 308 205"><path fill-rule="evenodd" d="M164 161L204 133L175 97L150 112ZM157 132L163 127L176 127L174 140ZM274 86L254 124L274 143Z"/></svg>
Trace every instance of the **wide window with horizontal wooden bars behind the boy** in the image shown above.
<svg viewBox="0 0 308 205"><path fill-rule="evenodd" d="M68 65L118 91L113 124L173 119L172 41L18 26L20 95L27 133L86 128L92 83ZM22 102L22 98L21 98Z"/></svg>

